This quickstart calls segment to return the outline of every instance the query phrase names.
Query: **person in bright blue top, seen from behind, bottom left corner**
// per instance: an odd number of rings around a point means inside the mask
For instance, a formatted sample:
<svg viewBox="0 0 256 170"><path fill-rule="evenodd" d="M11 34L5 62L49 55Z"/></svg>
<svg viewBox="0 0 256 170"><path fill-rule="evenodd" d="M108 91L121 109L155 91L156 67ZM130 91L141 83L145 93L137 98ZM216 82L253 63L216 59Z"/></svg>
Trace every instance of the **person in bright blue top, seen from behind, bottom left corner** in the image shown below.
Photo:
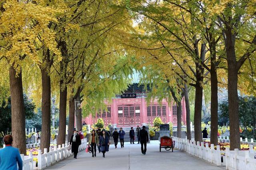
<svg viewBox="0 0 256 170"><path fill-rule="evenodd" d="M12 147L12 136L4 136L5 148L0 149L0 170L22 170L22 159L18 148ZM18 163L18 167L17 167Z"/></svg>

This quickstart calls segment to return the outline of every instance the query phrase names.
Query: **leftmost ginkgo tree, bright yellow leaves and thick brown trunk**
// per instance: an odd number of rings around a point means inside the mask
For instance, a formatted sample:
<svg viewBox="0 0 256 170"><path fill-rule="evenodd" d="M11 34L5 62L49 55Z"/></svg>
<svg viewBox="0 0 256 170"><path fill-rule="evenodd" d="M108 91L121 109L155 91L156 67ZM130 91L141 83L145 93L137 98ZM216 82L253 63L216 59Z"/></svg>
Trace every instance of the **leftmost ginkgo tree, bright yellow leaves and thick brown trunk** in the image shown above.
<svg viewBox="0 0 256 170"><path fill-rule="evenodd" d="M1 1L0 14L0 62L9 65L10 96L12 105L13 145L26 154L25 109L22 87L23 63L38 63L40 47L36 37L40 36L44 45L58 53L54 32L47 27L49 22L56 22L58 14L64 12L53 6L15 0ZM4 61L3 61L4 60Z"/></svg>

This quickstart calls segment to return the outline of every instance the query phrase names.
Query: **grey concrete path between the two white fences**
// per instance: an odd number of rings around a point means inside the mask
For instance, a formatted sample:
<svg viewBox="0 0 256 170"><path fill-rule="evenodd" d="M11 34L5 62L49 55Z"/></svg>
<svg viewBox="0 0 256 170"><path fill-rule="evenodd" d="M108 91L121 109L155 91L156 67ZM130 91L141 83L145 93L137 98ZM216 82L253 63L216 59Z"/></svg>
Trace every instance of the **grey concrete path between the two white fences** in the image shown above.
<svg viewBox="0 0 256 170"><path fill-rule="evenodd" d="M102 153L96 157L82 151L77 159L68 158L47 168L47 170L221 170L217 167L190 156L179 150L159 152L158 141L150 141L146 155L142 155L140 144L124 143L124 148L114 148L110 145L109 152L102 158Z"/></svg>

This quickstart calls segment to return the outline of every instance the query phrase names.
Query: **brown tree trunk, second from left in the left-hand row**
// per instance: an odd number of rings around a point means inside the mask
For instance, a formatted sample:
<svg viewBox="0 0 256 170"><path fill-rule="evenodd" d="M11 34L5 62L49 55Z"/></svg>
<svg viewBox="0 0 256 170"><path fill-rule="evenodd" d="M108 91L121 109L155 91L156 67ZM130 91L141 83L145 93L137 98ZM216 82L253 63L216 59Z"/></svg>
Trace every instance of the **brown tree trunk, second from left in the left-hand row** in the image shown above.
<svg viewBox="0 0 256 170"><path fill-rule="evenodd" d="M42 75L42 134L40 148L50 147L51 130L51 79L46 68L41 68Z"/></svg>

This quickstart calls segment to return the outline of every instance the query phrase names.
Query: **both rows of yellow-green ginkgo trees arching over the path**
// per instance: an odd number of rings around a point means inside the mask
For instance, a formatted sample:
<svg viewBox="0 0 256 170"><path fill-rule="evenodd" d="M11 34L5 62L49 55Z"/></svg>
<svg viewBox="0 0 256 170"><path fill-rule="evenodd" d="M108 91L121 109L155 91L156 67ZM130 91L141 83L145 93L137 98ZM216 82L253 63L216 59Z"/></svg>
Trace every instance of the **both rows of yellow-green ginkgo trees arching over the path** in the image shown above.
<svg viewBox="0 0 256 170"><path fill-rule="evenodd" d="M0 104L11 97L12 135L21 153L24 92L42 108L41 148L49 148L51 95L58 96L62 144L67 103L70 136L74 101L82 102L84 113L76 111L81 129L82 114L95 114L104 99L127 88L131 64L150 85L148 102L158 96L177 103L178 137L180 101L185 97L190 122L192 90L195 140L202 141L202 98L209 88L211 143L217 144L218 87L228 87L230 147L240 148L238 84L255 93L254 0L4 0L0 12Z"/></svg>

